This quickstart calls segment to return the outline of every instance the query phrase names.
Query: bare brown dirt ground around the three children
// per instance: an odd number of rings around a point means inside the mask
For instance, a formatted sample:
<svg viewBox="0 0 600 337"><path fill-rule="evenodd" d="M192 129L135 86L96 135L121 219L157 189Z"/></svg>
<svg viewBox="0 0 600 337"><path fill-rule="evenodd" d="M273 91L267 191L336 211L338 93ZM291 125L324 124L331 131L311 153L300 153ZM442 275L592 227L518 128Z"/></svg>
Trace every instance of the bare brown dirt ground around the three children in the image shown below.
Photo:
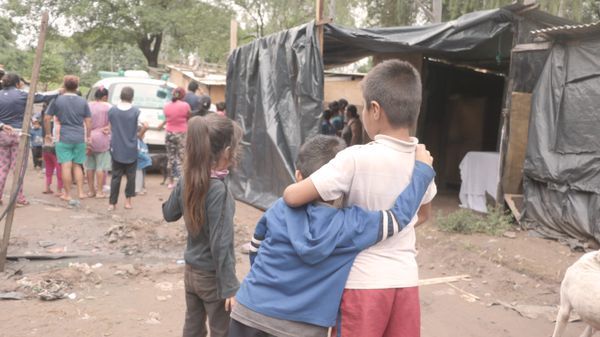
<svg viewBox="0 0 600 337"><path fill-rule="evenodd" d="M121 200L109 213L106 199L68 208L42 194L43 176L30 169L25 192L31 205L16 211L9 256L72 257L8 263L0 273L0 293L17 291L26 298L0 300L0 336L180 336L185 231L182 222L162 220L160 206L169 190L161 180L149 176L149 193L134 199L133 210L124 210ZM449 212L457 204L455 195L440 195L434 208ZM237 203L240 279L249 268L240 248L261 214ZM470 275L421 287L422 336L552 334L560 281L581 253L520 231L515 238L447 234L435 220L417 232L421 279ZM40 299L53 294L66 298ZM582 323L571 323L566 336L582 330Z"/></svg>

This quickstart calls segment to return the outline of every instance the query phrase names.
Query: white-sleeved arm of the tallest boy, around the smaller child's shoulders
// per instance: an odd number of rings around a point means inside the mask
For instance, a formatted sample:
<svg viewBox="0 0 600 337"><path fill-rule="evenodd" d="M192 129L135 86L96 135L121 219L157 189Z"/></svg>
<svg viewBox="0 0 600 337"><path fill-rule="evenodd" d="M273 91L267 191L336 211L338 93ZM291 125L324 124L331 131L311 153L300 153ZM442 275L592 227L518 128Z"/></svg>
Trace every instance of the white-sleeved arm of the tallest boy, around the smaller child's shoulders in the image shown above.
<svg viewBox="0 0 600 337"><path fill-rule="evenodd" d="M350 189L354 177L354 151L346 148L307 179L291 184L283 192L283 200L290 207L300 207L321 197L335 200Z"/></svg>

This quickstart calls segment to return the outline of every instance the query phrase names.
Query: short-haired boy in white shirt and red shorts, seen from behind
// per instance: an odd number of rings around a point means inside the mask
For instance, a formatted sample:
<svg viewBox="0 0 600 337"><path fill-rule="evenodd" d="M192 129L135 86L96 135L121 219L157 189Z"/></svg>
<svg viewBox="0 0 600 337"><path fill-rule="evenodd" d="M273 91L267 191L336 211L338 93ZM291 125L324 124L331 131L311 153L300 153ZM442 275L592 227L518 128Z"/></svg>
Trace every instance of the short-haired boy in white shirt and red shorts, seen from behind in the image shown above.
<svg viewBox="0 0 600 337"><path fill-rule="evenodd" d="M341 151L308 179L286 188L289 206L343 196L345 206L387 209L409 184L419 142L410 137L421 105L419 74L407 62L385 61L367 74L362 89L361 120L374 141ZM428 219L435 194L432 183L403 233L358 255L342 298L340 336L420 336L414 227Z"/></svg>

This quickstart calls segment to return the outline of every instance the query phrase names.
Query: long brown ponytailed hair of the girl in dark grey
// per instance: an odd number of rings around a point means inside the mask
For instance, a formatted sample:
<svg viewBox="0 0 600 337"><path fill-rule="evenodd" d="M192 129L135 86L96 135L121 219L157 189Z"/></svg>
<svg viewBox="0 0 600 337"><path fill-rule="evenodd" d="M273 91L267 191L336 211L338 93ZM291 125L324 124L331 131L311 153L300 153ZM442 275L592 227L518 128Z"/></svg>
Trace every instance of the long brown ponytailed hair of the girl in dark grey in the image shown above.
<svg viewBox="0 0 600 337"><path fill-rule="evenodd" d="M206 222L206 195L211 170L227 148L228 159L232 165L235 164L241 135L237 123L217 114L192 117L188 123L183 160L183 214L192 236L198 235Z"/></svg>

